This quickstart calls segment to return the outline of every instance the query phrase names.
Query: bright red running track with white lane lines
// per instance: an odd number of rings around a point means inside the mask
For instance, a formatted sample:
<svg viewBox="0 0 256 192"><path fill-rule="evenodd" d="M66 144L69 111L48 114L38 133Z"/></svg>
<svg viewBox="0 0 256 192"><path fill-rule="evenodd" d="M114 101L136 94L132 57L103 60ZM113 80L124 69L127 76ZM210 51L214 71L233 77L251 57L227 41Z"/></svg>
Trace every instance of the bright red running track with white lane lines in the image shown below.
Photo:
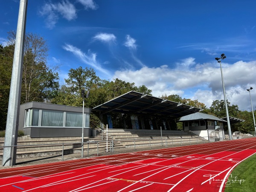
<svg viewBox="0 0 256 192"><path fill-rule="evenodd" d="M255 153L250 138L1 169L0 191L218 192Z"/></svg>

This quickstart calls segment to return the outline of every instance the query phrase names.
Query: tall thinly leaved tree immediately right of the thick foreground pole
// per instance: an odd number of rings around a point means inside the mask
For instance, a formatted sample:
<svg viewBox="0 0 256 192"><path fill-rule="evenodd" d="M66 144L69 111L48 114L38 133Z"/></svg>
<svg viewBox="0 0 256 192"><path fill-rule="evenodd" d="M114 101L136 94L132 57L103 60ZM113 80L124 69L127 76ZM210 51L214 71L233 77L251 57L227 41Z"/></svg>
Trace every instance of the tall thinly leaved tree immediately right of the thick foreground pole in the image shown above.
<svg viewBox="0 0 256 192"><path fill-rule="evenodd" d="M10 31L8 44L15 46L15 31ZM20 103L47 102L59 88L58 66L47 65L47 41L38 34L26 33Z"/></svg>

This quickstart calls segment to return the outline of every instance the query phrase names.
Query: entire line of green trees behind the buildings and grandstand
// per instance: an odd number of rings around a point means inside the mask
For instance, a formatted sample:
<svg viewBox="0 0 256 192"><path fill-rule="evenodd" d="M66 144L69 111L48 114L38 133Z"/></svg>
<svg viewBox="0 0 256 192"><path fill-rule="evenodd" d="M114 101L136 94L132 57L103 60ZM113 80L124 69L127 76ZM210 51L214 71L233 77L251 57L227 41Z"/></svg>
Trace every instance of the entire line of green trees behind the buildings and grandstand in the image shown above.
<svg viewBox="0 0 256 192"><path fill-rule="evenodd" d="M0 45L0 130L6 128L15 35L14 31L10 31L6 46ZM43 37L33 33L26 34L20 104L34 101L82 107L81 89L90 90L90 97L85 100L87 108L94 108L131 90L151 95L152 90L145 85L137 87L134 83L120 79L111 81L100 79L91 67L70 69L68 78L64 79L65 84L60 85L59 66L49 66L48 51L47 41ZM163 94L160 97L201 108L202 113L219 118L226 116L223 100L215 100L211 107L207 108L198 100L182 98L177 94L169 96ZM254 131L252 112L240 111L237 105L230 105L230 102L228 102L228 109L230 116L245 120L232 125L233 131L245 133ZM118 115L115 114L115 116ZM177 121L178 119L175 122ZM99 123L97 114L91 115L91 122ZM177 127L180 128L180 124L177 123Z"/></svg>

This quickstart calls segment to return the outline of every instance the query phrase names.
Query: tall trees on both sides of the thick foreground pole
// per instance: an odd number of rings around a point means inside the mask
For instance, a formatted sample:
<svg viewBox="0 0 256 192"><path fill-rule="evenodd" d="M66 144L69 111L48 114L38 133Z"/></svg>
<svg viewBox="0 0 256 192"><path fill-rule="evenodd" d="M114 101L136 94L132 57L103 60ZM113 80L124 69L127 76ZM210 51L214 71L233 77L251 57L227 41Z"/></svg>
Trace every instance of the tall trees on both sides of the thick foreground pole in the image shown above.
<svg viewBox="0 0 256 192"><path fill-rule="evenodd" d="M6 128L15 49L16 33L10 31L8 34L7 45L0 45L0 130ZM47 41L38 34L26 33L20 104L49 102L58 92L58 66L50 68L47 56Z"/></svg>

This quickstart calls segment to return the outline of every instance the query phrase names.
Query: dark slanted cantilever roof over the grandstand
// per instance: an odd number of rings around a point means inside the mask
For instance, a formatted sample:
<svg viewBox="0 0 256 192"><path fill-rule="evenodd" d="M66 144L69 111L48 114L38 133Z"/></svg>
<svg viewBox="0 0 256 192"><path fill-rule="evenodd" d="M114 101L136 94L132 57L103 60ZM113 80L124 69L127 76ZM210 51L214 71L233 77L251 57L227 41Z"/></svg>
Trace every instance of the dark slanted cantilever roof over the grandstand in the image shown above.
<svg viewBox="0 0 256 192"><path fill-rule="evenodd" d="M125 93L92 109L92 111L99 111L101 114L113 112L171 119L196 113L200 110L200 108L135 91Z"/></svg>

